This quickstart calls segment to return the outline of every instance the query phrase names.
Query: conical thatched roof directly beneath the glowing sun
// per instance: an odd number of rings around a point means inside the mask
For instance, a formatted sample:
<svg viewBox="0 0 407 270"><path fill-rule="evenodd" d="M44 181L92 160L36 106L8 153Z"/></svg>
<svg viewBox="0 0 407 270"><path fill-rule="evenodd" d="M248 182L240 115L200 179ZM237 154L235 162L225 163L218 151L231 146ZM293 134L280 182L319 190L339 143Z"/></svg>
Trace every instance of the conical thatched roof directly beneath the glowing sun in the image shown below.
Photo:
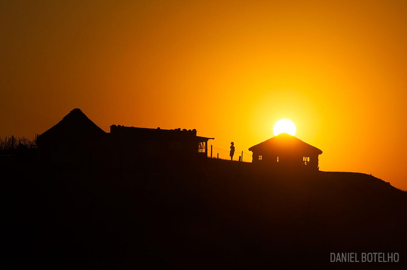
<svg viewBox="0 0 407 270"><path fill-rule="evenodd" d="M302 140L287 133L281 133L249 148L249 151L270 151L276 153L315 153L322 154L317 147L304 143Z"/></svg>

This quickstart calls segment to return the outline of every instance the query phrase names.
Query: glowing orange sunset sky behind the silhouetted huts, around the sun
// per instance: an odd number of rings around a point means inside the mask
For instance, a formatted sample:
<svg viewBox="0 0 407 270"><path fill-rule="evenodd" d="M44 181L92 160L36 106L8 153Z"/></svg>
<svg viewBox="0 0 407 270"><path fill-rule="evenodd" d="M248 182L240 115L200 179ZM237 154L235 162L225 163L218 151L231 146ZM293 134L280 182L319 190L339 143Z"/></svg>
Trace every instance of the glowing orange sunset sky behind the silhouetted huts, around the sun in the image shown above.
<svg viewBox="0 0 407 270"><path fill-rule="evenodd" d="M0 2L0 136L81 108L251 153L288 118L321 170L407 190L405 1L57 2Z"/></svg>

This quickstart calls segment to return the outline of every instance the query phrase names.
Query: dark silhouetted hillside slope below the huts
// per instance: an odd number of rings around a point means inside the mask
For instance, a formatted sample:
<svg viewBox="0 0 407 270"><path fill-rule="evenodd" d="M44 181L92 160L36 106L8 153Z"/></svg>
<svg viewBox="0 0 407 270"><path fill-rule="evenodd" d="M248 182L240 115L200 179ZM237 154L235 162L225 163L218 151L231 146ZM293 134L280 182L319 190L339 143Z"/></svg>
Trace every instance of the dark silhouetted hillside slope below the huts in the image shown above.
<svg viewBox="0 0 407 270"><path fill-rule="evenodd" d="M407 192L360 173L206 160L79 170L2 164L9 269L400 268ZM330 263L398 252L398 263Z"/></svg>

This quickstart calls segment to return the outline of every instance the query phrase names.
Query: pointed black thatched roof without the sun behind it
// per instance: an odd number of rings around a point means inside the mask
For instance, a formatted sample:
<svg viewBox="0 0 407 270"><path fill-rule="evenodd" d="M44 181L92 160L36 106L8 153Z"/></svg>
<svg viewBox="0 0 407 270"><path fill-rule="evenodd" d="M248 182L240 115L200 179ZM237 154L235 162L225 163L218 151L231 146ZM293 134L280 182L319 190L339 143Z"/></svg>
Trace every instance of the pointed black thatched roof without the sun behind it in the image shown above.
<svg viewBox="0 0 407 270"><path fill-rule="evenodd" d="M38 137L37 143L61 140L89 140L106 134L80 109L71 110L61 121Z"/></svg>

